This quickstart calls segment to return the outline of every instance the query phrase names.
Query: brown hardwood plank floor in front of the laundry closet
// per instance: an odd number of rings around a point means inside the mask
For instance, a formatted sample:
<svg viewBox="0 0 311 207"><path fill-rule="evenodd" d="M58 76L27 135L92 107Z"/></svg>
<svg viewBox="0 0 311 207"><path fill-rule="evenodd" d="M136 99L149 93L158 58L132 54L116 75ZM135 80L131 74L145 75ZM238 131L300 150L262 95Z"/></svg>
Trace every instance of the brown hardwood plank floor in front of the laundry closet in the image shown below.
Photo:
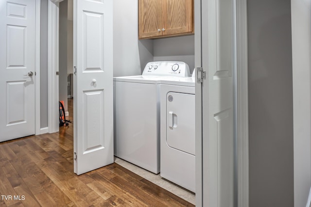
<svg viewBox="0 0 311 207"><path fill-rule="evenodd" d="M116 163L74 174L72 128L0 143L0 207L194 206Z"/></svg>

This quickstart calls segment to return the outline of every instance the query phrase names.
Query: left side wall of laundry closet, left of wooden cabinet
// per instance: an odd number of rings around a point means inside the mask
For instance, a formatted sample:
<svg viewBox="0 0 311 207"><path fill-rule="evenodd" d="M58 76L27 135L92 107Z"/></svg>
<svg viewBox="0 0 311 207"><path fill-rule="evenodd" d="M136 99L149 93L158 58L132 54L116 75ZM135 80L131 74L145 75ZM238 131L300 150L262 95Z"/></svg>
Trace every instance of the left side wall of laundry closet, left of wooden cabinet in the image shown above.
<svg viewBox="0 0 311 207"><path fill-rule="evenodd" d="M138 0L113 1L113 76L141 75L153 61L152 40L138 40Z"/></svg>

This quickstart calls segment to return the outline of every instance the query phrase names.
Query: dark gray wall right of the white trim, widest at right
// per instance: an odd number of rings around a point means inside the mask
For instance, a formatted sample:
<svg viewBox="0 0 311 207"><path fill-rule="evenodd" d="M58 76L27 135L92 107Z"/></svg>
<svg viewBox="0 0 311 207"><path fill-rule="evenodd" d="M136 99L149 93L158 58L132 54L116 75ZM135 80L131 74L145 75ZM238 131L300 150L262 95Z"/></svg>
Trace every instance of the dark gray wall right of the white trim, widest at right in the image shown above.
<svg viewBox="0 0 311 207"><path fill-rule="evenodd" d="M248 0L250 207L293 207L290 0Z"/></svg>

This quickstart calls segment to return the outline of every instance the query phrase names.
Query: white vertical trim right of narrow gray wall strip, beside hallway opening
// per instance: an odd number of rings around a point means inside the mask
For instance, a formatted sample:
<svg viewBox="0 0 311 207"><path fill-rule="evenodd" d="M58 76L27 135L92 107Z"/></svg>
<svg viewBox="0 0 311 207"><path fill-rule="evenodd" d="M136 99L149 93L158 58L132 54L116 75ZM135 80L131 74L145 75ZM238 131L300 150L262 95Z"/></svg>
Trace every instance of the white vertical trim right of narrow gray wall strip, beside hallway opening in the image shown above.
<svg viewBox="0 0 311 207"><path fill-rule="evenodd" d="M59 130L58 120L56 119L58 110L57 100L58 91L56 90L58 67L57 36L58 36L58 12L59 9L52 1L48 3L48 127L49 133Z"/></svg>

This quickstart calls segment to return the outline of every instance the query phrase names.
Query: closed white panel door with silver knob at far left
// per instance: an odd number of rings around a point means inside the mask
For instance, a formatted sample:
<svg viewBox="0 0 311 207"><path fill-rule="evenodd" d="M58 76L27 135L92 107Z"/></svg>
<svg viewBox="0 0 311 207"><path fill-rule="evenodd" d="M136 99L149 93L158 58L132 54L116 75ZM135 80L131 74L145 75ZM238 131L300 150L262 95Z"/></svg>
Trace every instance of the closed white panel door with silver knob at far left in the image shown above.
<svg viewBox="0 0 311 207"><path fill-rule="evenodd" d="M0 142L35 134L35 0L0 1L0 74Z"/></svg>

